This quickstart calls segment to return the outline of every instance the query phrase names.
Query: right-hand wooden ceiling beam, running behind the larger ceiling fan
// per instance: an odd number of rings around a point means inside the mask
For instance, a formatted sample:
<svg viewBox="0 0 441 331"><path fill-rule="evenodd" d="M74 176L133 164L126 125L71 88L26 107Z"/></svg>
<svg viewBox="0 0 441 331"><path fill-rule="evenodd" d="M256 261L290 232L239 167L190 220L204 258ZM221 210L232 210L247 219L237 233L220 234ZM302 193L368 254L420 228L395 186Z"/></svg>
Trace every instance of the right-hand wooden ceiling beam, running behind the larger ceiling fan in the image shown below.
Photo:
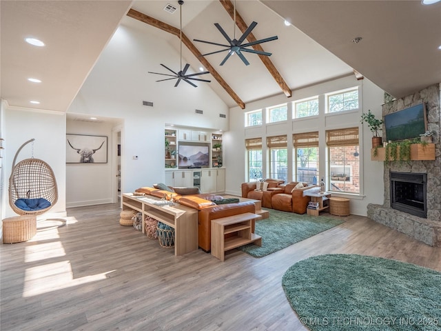
<svg viewBox="0 0 441 331"><path fill-rule="evenodd" d="M219 1L220 1L220 3L222 3L223 8L225 8L225 10L227 10L229 16L232 17L232 19L234 19L234 4L232 3L232 1L230 1L230 0L219 0ZM245 23L245 21L242 19L242 17L237 12L237 10L236 10L236 22L235 23L238 26L238 28L240 29L240 31L242 31L242 33L245 33L245 31L248 28L247 23ZM256 39L256 37L254 37L254 34L252 32L250 34L248 34L247 41L249 43L252 43L253 41L256 41L256 40L257 39ZM263 50L262 46L260 46L260 44L253 45L252 48L254 48L254 50L260 50L261 52L264 52L264 50ZM258 56L260 57L260 60L262 60L265 67L267 67L267 70L269 71L271 76L274 78L276 83L278 83L278 86L280 86L283 93L285 93L285 95L287 97L291 97L291 89L289 88L288 84L285 82L285 79L283 79L280 72L278 72L278 70L276 69L276 66L274 66L274 64L271 62L269 57L267 57L265 55L260 55L260 54L258 54Z"/></svg>

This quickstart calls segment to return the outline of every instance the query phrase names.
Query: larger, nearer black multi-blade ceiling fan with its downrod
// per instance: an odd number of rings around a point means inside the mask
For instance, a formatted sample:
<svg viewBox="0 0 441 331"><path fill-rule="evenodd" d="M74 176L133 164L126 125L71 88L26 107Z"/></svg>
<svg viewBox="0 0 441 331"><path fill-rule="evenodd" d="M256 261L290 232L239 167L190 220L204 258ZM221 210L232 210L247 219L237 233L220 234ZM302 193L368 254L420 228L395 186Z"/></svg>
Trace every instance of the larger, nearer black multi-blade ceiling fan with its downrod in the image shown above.
<svg viewBox="0 0 441 331"><path fill-rule="evenodd" d="M236 39L236 0L234 0L234 39L230 39L228 37L228 34L225 32L225 30L223 30L223 28L218 24L218 23L214 23L214 26L216 26L216 28L219 30L219 32L223 35L223 37L225 39L227 39L228 41L228 45L224 45L222 43L213 43L212 41L203 41L200 39L193 39L194 41L198 41L201 43L209 43L212 45L216 45L216 46L222 46L225 47L225 49L223 50L216 50L215 52L209 52L207 54L202 54L202 57L205 57L206 55L210 55L210 54L216 54L216 53L220 53L220 52L225 52L226 50L228 51L227 56L223 59L222 62L220 62L220 66L223 66L223 64L227 61L227 59L229 59L229 57L232 56L232 54L236 53L238 55L238 57L243 61L243 63L245 63L245 66L249 65L249 62L247 61L247 59L245 59L245 57L243 56L243 54L241 52L249 52L249 53L254 53L254 54L259 54L259 55L265 55L267 57L271 56L271 53L269 52L263 52L262 50L254 50L252 48L247 48L248 46L253 46L253 45L258 45L260 43L266 43L267 41L273 41L278 39L277 36L274 37L269 37L269 38L265 38L265 39L260 39L260 40L256 40L256 41L252 41L250 43L243 43L243 41L245 41L245 38L248 37L248 35L252 32L252 30L257 26L257 22L253 21L251 23L251 25L247 28L247 30L242 34L242 37L240 37L239 39Z"/></svg>

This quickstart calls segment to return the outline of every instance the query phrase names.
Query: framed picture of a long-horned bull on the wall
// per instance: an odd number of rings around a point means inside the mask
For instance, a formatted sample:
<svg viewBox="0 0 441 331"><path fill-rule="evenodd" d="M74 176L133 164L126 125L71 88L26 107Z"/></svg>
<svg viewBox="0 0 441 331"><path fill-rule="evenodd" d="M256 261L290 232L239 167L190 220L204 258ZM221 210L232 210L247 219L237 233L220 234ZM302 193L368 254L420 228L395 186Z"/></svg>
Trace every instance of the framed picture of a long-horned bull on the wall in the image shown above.
<svg viewBox="0 0 441 331"><path fill-rule="evenodd" d="M107 136L66 134L66 163L107 163Z"/></svg>

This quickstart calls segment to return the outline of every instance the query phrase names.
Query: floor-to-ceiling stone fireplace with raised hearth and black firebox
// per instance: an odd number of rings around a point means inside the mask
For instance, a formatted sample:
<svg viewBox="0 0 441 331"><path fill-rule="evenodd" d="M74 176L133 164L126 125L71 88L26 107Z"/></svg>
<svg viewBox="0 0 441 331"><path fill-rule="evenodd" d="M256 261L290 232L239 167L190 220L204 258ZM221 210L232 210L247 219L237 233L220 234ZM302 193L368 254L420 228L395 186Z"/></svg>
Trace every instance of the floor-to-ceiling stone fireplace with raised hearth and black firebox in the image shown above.
<svg viewBox="0 0 441 331"><path fill-rule="evenodd" d="M440 97L440 84L435 84L384 103L383 116L418 103L426 104L427 129L435 132L435 160L385 164L384 203L367 206L367 216L373 221L438 247L441 247Z"/></svg>

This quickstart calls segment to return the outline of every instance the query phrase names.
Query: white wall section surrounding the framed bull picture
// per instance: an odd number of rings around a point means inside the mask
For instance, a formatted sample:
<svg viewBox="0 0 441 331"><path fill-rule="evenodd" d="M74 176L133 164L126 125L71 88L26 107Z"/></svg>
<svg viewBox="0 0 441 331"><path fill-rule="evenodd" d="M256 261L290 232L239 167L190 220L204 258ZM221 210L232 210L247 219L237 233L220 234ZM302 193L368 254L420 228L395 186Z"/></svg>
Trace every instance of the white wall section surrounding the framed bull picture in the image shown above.
<svg viewBox="0 0 441 331"><path fill-rule="evenodd" d="M66 163L66 207L111 203L116 173L112 164L116 153L111 122L66 122L66 133L107 137L107 163ZM77 146L74 146L77 147ZM81 146L84 147L84 146ZM79 147L79 148L81 148ZM66 147L69 148L69 147Z"/></svg>

